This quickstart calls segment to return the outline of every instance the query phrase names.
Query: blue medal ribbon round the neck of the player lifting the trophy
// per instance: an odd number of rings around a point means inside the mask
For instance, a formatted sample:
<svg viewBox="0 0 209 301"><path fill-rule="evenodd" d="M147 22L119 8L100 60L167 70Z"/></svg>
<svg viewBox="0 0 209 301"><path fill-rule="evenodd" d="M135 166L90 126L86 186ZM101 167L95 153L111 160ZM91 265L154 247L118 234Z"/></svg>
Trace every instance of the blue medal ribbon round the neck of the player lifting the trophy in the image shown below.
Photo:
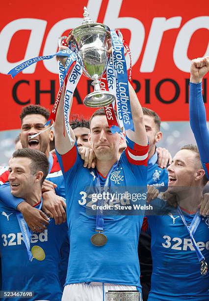
<svg viewBox="0 0 209 301"><path fill-rule="evenodd" d="M107 177L106 177L106 181L104 183L104 193L107 192L108 190L108 183L109 183L109 176L110 174L112 173L112 171L115 169L115 167L118 165L118 161L112 166L112 168L110 169L110 171L108 172L107 174ZM99 193L101 194L102 193L102 187L101 187L101 183L100 183L100 177L99 177L99 174L98 174L98 171L96 171L96 183L97 183L97 186L96 186L96 189L99 190ZM102 199L99 199L98 200L98 206L103 206L103 203L104 203L104 198L102 197ZM103 215L103 209L99 209L97 210L97 217L96 217L96 231L104 231L104 215Z"/></svg>

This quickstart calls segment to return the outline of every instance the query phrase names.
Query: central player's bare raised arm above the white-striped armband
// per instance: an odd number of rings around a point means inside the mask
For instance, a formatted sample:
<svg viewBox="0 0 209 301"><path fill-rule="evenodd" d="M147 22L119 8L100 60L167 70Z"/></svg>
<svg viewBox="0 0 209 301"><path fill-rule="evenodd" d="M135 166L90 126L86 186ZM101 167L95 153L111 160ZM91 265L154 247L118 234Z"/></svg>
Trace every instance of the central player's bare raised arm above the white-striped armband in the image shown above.
<svg viewBox="0 0 209 301"><path fill-rule="evenodd" d="M135 142L136 144L141 146L147 146L148 139L147 139L146 129L144 125L142 108L138 100L138 97L136 96L136 93L130 83L129 83L129 94L130 94L131 114L133 119L134 132L132 130L127 130L126 135L128 136L128 138L131 139L131 141Z"/></svg>

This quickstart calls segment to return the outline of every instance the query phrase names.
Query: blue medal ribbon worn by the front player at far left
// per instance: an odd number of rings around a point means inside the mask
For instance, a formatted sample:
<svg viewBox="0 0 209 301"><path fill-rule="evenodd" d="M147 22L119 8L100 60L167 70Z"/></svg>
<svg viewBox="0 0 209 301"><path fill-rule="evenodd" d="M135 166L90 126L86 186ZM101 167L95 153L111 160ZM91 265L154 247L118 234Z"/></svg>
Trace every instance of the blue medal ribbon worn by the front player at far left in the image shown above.
<svg viewBox="0 0 209 301"><path fill-rule="evenodd" d="M41 209L42 204L43 204L43 198L41 198L41 203L39 205L38 210ZM24 239L24 242L25 242L25 245L26 245L28 259L29 259L29 261L32 261L33 255L30 251L30 240L31 240L31 235L32 235L31 230L29 230L29 228L27 226L27 223L26 223L26 221L23 217L23 214L20 211L16 211L16 216L17 216L17 220L18 220L18 223L19 223L19 226L20 226L20 230L22 232L23 239Z"/></svg>

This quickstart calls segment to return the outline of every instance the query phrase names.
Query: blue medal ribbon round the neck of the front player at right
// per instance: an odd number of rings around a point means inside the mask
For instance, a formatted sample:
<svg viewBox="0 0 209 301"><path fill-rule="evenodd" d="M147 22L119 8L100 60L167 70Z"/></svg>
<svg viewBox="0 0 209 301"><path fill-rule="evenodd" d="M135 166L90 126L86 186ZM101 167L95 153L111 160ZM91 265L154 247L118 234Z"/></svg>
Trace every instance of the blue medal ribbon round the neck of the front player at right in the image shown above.
<svg viewBox="0 0 209 301"><path fill-rule="evenodd" d="M193 247L196 251L196 254L197 254L197 258L199 260L199 262L202 262L202 261L205 261L205 257L203 256L202 252L200 251L194 237L193 237L193 234L196 232L197 230L197 227L199 226L200 222L201 222L201 216L200 216L200 211L198 210L194 216L194 218L192 219L192 222L190 224L190 226L188 227L187 224L186 224L186 221L185 221L185 218L183 216L183 213L182 213L182 210L181 208L178 206L178 213L184 223L184 226L186 227L188 233L189 233L189 236L191 238L191 241L192 241L192 244L193 244Z"/></svg>

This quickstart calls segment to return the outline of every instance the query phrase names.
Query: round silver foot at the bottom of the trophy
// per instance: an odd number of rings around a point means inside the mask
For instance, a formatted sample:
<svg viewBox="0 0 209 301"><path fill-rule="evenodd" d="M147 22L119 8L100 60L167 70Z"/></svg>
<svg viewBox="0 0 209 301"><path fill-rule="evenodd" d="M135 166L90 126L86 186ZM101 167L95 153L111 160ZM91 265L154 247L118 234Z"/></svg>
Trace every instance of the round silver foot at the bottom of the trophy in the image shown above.
<svg viewBox="0 0 209 301"><path fill-rule="evenodd" d="M109 91L94 91L84 98L84 105L90 108L101 108L108 106L115 100L115 95Z"/></svg>

